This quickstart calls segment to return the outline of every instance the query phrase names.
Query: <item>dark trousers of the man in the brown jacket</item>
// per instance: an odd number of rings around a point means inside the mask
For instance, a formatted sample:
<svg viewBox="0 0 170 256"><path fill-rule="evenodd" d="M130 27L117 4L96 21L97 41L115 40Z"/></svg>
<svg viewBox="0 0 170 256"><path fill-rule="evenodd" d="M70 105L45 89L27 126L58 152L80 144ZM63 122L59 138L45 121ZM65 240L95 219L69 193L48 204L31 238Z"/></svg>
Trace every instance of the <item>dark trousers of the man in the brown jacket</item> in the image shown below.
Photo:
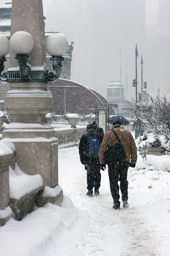
<svg viewBox="0 0 170 256"><path fill-rule="evenodd" d="M127 181L128 168L129 168L129 162L123 161L119 164L113 165L112 168L108 169L110 191L113 197L114 204L120 205L118 180L120 181L122 201L128 200L128 181Z"/></svg>

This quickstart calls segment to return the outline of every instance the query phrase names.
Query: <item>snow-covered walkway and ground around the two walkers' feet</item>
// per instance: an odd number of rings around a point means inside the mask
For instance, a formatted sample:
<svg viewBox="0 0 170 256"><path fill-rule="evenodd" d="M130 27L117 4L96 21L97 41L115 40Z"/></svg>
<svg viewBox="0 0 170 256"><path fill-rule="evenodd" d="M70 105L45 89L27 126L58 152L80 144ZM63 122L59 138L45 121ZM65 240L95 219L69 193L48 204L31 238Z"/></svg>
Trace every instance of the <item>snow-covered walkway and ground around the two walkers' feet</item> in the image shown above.
<svg viewBox="0 0 170 256"><path fill-rule="evenodd" d="M0 256L169 256L170 173L129 168L128 209L113 210L107 170L86 196L78 148L59 149L62 207L48 203L0 227Z"/></svg>

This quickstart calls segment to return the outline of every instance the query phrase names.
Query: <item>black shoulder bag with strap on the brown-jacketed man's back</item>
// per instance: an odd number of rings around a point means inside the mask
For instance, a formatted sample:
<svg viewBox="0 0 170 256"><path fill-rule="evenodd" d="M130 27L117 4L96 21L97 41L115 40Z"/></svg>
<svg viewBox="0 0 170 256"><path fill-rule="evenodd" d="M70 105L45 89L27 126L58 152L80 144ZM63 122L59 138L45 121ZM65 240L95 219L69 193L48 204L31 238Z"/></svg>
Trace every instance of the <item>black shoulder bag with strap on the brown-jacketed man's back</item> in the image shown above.
<svg viewBox="0 0 170 256"><path fill-rule="evenodd" d="M111 146L105 152L104 156L109 168L113 167L114 164L121 163L125 158L127 158L121 140L117 136L116 132L114 130L112 131L115 134L117 140L119 141L119 144Z"/></svg>

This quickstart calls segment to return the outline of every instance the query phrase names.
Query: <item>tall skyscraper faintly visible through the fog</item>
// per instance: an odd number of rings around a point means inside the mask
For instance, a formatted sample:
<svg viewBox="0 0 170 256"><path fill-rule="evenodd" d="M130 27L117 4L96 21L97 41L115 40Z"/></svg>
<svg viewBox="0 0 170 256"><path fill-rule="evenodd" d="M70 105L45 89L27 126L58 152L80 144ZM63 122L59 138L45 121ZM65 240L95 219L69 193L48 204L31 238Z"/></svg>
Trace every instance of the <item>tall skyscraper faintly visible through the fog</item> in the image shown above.
<svg viewBox="0 0 170 256"><path fill-rule="evenodd" d="M146 6L144 0L87 0L84 2L78 28L82 45L78 68L79 79L106 95L110 80L119 79L120 47L122 51L122 82L126 78L128 58L129 91L134 93L132 79L135 77L135 46L145 56ZM76 41L76 40L75 40ZM86 73L86 74L85 74ZM85 74L85 77L82 77ZM140 61L138 61L140 82Z"/></svg>

